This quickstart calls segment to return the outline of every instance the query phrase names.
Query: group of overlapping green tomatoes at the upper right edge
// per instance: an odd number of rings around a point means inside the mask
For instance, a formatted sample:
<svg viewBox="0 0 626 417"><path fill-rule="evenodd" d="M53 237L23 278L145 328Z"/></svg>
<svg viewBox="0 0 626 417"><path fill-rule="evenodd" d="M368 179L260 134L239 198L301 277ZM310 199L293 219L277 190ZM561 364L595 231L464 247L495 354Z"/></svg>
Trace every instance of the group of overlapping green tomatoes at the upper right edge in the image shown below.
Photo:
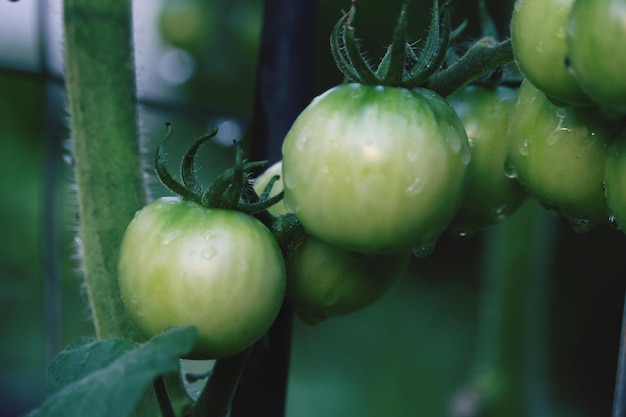
<svg viewBox="0 0 626 417"><path fill-rule="evenodd" d="M525 81L509 123L509 172L581 231L626 226L625 41L623 0L515 3L511 42Z"/></svg>

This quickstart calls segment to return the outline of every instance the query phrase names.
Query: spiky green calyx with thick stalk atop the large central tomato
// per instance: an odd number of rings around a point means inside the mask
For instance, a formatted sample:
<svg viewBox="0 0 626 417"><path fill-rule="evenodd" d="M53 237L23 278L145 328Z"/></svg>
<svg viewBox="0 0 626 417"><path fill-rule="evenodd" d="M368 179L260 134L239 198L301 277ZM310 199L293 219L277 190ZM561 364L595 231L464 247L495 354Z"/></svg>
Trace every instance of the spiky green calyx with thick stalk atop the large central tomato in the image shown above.
<svg viewBox="0 0 626 417"><path fill-rule="evenodd" d="M497 41L486 33L454 62L446 62L451 42L463 31L466 22L452 29L450 8L453 0L439 5L433 0L428 35L420 51L407 39L407 6L402 3L392 42L374 69L361 51L355 36L357 2L344 13L330 36L330 49L337 68L350 82L390 87L424 87L446 97L470 82L513 62L509 39Z"/></svg>

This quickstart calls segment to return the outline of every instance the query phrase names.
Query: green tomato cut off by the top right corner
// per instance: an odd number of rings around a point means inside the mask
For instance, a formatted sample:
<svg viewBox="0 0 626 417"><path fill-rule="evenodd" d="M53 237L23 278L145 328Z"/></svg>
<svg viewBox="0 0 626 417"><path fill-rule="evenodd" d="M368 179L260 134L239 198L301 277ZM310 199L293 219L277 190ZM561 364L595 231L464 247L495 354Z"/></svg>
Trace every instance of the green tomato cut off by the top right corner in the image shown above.
<svg viewBox="0 0 626 417"><path fill-rule="evenodd" d="M602 107L626 113L626 1L576 0L567 30L574 77Z"/></svg>

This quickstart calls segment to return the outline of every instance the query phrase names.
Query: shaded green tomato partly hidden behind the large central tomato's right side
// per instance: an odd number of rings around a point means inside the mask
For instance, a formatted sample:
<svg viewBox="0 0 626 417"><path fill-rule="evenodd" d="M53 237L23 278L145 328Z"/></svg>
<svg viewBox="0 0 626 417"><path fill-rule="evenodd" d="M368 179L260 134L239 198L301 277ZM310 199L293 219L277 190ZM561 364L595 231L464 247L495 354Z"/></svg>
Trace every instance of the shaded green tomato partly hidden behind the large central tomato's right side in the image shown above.
<svg viewBox="0 0 626 417"><path fill-rule="evenodd" d="M467 133L472 159L463 204L450 229L472 234L510 216L527 194L506 175L506 134L517 91L509 87L468 86L446 100L457 112Z"/></svg>

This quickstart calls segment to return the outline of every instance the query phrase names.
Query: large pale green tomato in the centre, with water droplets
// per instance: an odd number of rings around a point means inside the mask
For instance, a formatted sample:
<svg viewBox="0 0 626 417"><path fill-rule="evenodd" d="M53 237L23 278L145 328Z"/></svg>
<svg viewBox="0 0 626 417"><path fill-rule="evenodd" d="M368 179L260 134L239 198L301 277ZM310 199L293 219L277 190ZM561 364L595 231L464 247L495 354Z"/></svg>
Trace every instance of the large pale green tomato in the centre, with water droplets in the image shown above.
<svg viewBox="0 0 626 417"><path fill-rule="evenodd" d="M315 98L282 153L287 209L313 236L362 253L432 245L461 204L470 159L438 94L356 83Z"/></svg>

